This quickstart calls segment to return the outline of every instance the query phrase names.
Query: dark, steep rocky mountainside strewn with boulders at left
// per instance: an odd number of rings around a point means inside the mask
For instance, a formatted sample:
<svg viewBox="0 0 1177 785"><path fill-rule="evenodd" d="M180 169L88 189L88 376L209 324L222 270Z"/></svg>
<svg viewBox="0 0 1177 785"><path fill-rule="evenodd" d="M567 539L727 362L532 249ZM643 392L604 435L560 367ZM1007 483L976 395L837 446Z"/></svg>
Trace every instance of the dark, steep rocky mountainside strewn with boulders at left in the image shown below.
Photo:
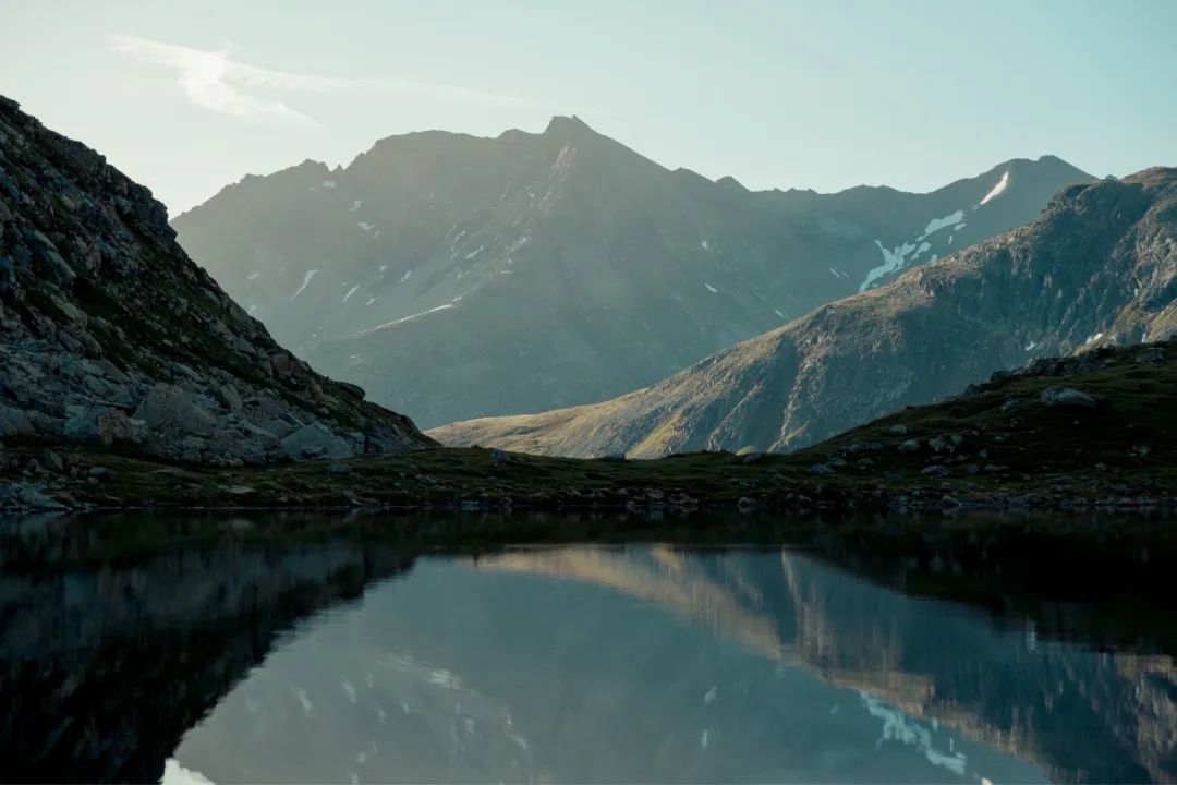
<svg viewBox="0 0 1177 785"><path fill-rule="evenodd" d="M194 463L432 444L275 344L147 188L2 98L0 437Z"/></svg>

